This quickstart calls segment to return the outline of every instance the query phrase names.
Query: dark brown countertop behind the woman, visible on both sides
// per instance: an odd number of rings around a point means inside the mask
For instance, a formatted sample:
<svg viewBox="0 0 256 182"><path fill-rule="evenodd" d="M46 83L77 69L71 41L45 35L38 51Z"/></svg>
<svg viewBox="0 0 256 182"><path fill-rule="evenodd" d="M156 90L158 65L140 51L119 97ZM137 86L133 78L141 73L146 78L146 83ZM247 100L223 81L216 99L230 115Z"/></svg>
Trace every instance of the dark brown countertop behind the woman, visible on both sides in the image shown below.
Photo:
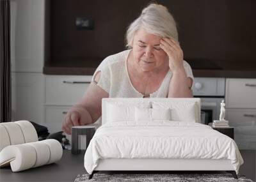
<svg viewBox="0 0 256 182"><path fill-rule="evenodd" d="M256 61L211 61L198 64L188 61L194 77L256 78ZM86 66L84 63L45 64L45 75L93 75L97 66Z"/></svg>

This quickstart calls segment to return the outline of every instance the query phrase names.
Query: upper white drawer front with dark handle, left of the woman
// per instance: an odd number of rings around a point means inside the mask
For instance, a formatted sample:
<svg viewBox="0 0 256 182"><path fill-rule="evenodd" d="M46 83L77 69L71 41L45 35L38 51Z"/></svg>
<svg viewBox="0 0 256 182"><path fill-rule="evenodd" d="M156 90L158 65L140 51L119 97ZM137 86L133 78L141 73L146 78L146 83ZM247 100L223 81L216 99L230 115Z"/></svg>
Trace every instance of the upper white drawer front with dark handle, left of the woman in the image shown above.
<svg viewBox="0 0 256 182"><path fill-rule="evenodd" d="M45 75L45 105L74 105L81 100L92 76Z"/></svg>

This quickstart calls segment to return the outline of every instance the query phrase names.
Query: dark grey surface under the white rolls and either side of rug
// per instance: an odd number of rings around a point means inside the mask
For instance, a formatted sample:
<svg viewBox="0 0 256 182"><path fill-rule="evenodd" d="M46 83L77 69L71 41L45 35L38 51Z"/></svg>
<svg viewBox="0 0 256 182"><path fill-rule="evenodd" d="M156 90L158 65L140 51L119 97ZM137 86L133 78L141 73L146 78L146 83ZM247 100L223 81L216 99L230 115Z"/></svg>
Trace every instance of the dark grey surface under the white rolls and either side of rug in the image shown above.
<svg viewBox="0 0 256 182"><path fill-rule="evenodd" d="M12 172L10 167L4 167L0 169L0 181L74 181L78 174L86 174L84 153L83 151L79 155L72 155L69 150L63 150L63 156L58 162L20 172ZM255 180L256 151L240 150L240 153L244 158L244 164L241 165L239 174Z"/></svg>

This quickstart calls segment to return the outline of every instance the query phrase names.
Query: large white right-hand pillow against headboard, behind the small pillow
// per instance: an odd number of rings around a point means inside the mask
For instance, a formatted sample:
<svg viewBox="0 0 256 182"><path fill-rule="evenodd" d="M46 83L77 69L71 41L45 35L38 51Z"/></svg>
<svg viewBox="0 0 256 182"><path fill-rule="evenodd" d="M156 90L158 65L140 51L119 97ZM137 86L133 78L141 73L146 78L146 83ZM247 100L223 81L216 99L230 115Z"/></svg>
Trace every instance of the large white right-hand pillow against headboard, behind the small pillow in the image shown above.
<svg viewBox="0 0 256 182"><path fill-rule="evenodd" d="M152 102L154 109L168 109L171 110L172 121L186 121L196 122L196 103L195 102Z"/></svg>

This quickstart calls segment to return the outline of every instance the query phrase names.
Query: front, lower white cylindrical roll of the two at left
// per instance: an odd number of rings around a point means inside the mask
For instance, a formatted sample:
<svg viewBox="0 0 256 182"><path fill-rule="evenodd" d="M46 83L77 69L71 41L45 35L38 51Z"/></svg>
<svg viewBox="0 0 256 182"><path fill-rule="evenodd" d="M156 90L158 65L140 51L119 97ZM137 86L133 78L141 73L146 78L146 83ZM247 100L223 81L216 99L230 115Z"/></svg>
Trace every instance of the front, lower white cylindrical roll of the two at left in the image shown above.
<svg viewBox="0 0 256 182"><path fill-rule="evenodd" d="M23 171L56 162L62 154L60 142L54 139L7 146L0 152L0 167L10 164L13 172Z"/></svg>

